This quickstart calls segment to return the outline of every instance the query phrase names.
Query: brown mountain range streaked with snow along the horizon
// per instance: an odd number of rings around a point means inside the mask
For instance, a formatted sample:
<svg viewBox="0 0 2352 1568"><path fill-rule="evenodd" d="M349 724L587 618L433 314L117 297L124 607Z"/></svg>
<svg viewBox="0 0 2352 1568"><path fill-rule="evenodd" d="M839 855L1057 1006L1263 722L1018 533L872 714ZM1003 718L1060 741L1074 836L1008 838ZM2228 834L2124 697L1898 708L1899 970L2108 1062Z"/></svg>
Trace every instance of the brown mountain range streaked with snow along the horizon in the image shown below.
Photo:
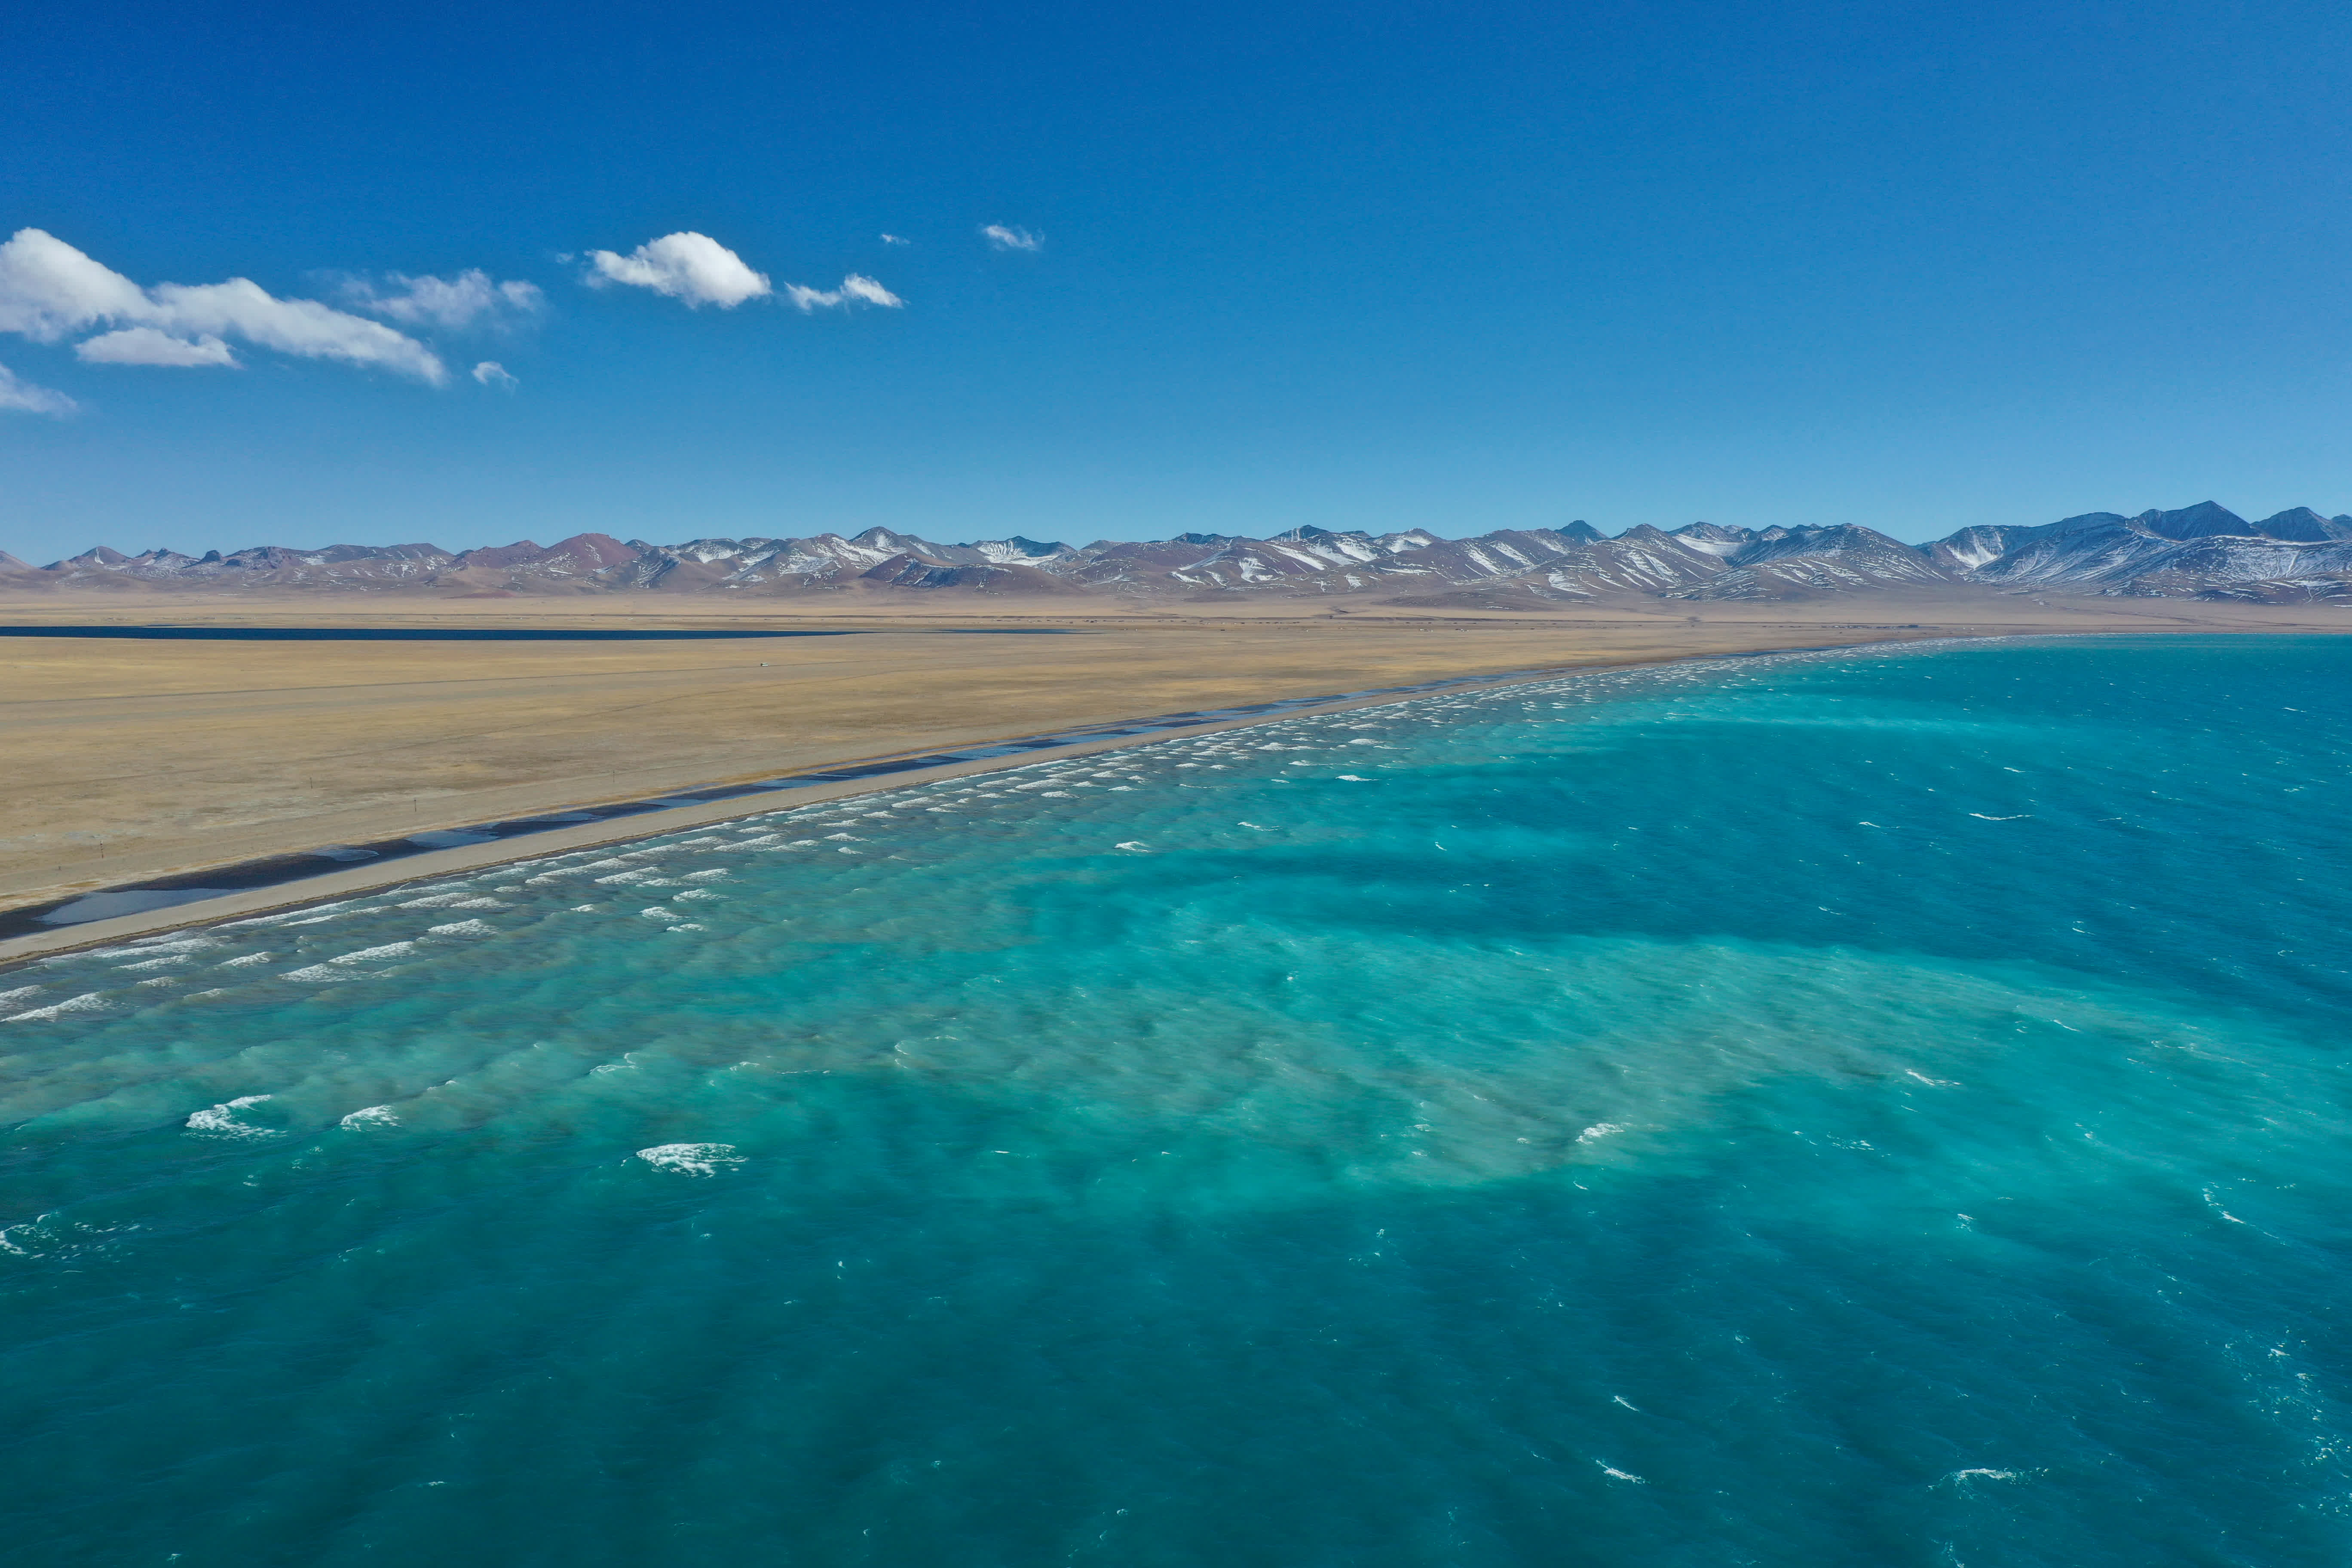
<svg viewBox="0 0 2352 1568"><path fill-rule="evenodd" d="M943 545L889 529L851 538L694 538L656 545L576 534L485 550L327 545L181 555L111 548L31 567L0 552L0 590L412 592L435 597L691 592L729 597L1362 597L1418 609L1534 609L1611 599L1811 599L1849 592L2199 597L2352 604L2352 517L2293 508L2246 522L2204 501L2084 512L2039 527L1969 527L1905 545L1858 524L1736 529L1693 522L1604 536L1588 522L1439 538L1425 529L1291 529L1272 538L1178 534L1091 545L995 538Z"/></svg>

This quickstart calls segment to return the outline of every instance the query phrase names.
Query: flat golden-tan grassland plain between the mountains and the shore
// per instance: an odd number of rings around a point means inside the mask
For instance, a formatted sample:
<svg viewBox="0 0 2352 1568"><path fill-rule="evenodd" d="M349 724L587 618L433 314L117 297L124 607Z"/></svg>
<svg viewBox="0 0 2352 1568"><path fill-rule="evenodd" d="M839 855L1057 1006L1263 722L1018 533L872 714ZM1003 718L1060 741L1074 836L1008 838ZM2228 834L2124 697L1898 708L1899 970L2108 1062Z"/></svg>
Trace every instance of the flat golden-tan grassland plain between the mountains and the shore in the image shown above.
<svg viewBox="0 0 2352 1568"><path fill-rule="evenodd" d="M2331 607L1823 599L1411 614L1315 602L889 607L42 595L0 625L842 630L706 642L0 637L0 907L296 849L858 757L1693 654L2032 632L2352 630ZM955 635L988 630L1051 635Z"/></svg>

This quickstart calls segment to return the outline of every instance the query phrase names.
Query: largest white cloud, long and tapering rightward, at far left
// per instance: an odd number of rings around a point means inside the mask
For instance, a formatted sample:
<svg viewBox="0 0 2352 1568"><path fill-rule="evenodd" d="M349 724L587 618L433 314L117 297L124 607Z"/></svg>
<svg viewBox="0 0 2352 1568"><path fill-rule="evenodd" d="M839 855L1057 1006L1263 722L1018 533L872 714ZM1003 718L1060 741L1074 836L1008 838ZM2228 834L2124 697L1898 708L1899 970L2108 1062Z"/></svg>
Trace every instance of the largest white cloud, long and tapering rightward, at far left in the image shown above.
<svg viewBox="0 0 2352 1568"><path fill-rule="evenodd" d="M158 336L195 346L207 336L242 339L306 360L395 369L433 386L449 378L433 350L416 339L383 322L332 310L315 299L278 299L247 277L207 284L160 282L141 289L122 273L38 228L19 228L7 244L0 244L0 331L54 343L71 331L101 324L153 327ZM111 353L115 350L99 350L101 357ZM155 362L139 360L139 364Z"/></svg>

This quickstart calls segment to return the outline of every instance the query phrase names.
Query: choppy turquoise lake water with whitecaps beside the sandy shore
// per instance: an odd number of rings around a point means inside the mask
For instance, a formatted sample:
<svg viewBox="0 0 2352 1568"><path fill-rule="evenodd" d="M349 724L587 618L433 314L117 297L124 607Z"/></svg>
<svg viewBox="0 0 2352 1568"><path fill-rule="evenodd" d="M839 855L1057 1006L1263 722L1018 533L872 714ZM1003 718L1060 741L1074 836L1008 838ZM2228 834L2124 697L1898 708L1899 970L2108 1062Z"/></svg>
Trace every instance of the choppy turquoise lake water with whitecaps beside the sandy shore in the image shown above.
<svg viewBox="0 0 2352 1568"><path fill-rule="evenodd" d="M0 1561L2343 1563L2347 691L1566 677L0 973Z"/></svg>

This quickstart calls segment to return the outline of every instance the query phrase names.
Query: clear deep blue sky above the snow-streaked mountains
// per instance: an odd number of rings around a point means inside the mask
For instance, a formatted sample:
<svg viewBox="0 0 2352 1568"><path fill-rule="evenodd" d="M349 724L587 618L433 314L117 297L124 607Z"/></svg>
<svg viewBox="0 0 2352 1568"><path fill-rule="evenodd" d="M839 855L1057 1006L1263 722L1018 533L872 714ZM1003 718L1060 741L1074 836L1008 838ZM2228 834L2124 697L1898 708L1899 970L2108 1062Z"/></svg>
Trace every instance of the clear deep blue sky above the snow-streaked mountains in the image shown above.
<svg viewBox="0 0 2352 1568"><path fill-rule="evenodd" d="M0 237L132 303L0 277L0 548L2343 512L2347 45L2161 0L24 7ZM769 294L590 287L682 233ZM473 270L529 287L454 327ZM844 277L898 303L786 294Z"/></svg>

